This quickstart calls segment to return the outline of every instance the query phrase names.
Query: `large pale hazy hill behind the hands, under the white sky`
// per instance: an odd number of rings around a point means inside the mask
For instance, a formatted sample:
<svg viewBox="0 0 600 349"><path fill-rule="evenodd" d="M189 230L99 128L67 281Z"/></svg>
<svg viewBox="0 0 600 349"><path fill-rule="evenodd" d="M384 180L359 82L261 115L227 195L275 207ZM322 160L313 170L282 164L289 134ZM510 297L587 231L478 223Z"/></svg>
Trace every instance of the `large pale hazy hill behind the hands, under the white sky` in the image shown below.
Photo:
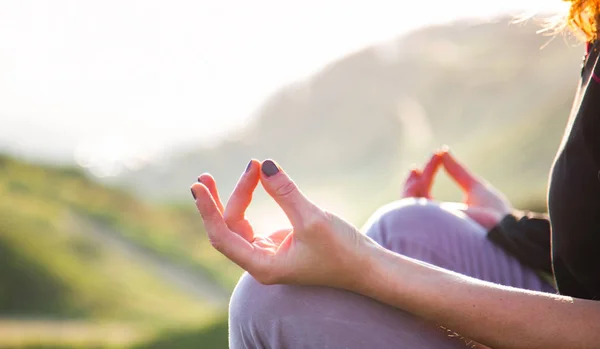
<svg viewBox="0 0 600 349"><path fill-rule="evenodd" d="M188 200L198 174L231 189L248 159L270 157L305 190L346 202L343 213L360 222L396 198L409 164L448 144L517 206L543 208L583 49L509 21L426 28L341 58L283 87L220 144L120 183L148 198ZM456 198L440 183L440 197Z"/></svg>

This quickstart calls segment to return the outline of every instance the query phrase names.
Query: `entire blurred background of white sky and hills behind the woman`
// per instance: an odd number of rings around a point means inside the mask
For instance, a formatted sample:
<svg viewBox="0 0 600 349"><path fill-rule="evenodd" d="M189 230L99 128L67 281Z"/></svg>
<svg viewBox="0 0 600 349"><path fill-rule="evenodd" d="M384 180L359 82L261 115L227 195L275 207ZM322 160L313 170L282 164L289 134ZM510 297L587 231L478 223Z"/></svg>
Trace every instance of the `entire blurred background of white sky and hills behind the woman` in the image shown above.
<svg viewBox="0 0 600 349"><path fill-rule="evenodd" d="M226 348L241 271L189 186L250 158L360 226L447 144L544 211L583 47L512 22L566 5L0 1L0 347Z"/></svg>

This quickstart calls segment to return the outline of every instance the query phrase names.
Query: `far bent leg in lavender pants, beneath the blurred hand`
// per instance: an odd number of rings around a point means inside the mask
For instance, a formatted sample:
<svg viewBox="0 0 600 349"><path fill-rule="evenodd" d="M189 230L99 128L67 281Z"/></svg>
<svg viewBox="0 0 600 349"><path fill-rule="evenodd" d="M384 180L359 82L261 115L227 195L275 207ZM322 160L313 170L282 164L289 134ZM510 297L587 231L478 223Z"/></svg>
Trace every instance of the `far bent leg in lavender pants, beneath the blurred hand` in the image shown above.
<svg viewBox="0 0 600 349"><path fill-rule="evenodd" d="M405 199L382 207L363 231L383 247L423 262L505 286L555 293L535 271L487 238L463 213Z"/></svg>

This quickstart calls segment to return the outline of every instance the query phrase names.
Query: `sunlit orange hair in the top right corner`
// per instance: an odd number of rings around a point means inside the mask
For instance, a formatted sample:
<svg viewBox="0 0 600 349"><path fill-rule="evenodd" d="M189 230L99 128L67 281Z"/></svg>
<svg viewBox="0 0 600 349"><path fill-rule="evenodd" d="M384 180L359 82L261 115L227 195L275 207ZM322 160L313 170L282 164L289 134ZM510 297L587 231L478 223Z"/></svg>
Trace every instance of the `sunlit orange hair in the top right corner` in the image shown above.
<svg viewBox="0 0 600 349"><path fill-rule="evenodd" d="M598 39L600 0L563 0L570 3L569 12L559 27L569 28L588 42Z"/></svg>

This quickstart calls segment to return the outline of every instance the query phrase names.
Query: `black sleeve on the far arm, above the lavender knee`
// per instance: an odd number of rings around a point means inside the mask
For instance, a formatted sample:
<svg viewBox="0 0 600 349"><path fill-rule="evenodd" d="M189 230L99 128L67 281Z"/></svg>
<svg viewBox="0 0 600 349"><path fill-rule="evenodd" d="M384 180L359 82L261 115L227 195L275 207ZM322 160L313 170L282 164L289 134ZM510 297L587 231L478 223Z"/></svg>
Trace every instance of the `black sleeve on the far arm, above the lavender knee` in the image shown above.
<svg viewBox="0 0 600 349"><path fill-rule="evenodd" d="M488 232L488 238L526 266L552 274L547 215L532 212L509 214Z"/></svg>

